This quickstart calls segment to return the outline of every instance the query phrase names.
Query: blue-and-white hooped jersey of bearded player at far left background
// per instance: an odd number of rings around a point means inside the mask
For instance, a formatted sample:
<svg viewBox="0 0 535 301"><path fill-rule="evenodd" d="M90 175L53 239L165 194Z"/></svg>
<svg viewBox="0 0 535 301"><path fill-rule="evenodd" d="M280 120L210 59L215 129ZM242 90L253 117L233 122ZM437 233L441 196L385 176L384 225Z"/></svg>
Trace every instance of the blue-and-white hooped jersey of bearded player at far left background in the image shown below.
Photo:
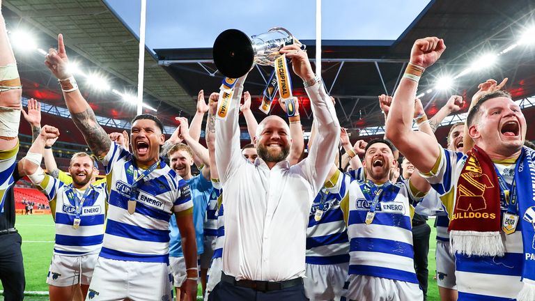
<svg viewBox="0 0 535 301"><path fill-rule="evenodd" d="M104 219L108 201L105 183L91 185L80 213L80 224L75 229L76 203L73 194L77 194L82 201L84 191L72 187L72 183L65 185L61 180L45 175L45 179L38 185L47 196L54 222L56 222L56 244L54 254L65 256L79 256L96 254L102 247L104 238Z"/></svg>

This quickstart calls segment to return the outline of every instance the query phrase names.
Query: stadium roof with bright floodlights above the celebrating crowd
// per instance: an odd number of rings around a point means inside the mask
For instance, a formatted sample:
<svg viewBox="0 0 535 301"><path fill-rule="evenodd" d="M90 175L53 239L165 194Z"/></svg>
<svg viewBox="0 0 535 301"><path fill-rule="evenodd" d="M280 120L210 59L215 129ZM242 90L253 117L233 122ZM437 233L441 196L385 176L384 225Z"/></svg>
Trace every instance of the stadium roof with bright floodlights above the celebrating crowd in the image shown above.
<svg viewBox="0 0 535 301"><path fill-rule="evenodd" d="M3 9L8 29L31 27L42 49L54 47L57 33L63 33L70 57L78 54L80 65L88 72L99 70L110 78L112 86L135 91L137 36L102 1L13 0L3 1L3 5L10 10ZM535 46L519 41L522 33L534 23L535 3L531 0L431 1L397 40L324 40L322 76L327 91L337 100L336 109L343 126L380 125L383 120L376 95L393 93L414 40L439 36L444 38L448 48L439 63L426 71L419 91L425 93L421 99L428 114L435 114L452 93L470 99L477 84L488 78L509 77L508 88L515 98L523 98L535 94ZM315 42L303 42L313 60ZM483 54L499 54L515 44L517 47L497 56L494 65L478 66L455 79L449 90L435 88L438 78L455 77ZM172 123L172 116L178 114L178 110L194 113L194 100L201 88L208 93L219 87L222 75L212 63L210 48L148 50L154 50L157 56L146 51L144 98L150 106L158 107L158 115L167 124ZM24 94L61 105L59 88L42 64L42 56L19 53L16 56L26 81ZM264 66L251 72L245 86L251 95L261 94L270 72L270 68ZM302 85L297 78L293 80L295 95L300 97L304 108L301 114L311 117ZM134 107L121 102L116 95L94 91L89 86L82 92L97 114L113 118L132 118L135 114ZM254 101L253 106L258 107L259 99ZM274 109L274 114L281 114L281 110ZM262 118L263 114L256 113L256 116ZM305 128L309 127L311 119L303 119Z"/></svg>

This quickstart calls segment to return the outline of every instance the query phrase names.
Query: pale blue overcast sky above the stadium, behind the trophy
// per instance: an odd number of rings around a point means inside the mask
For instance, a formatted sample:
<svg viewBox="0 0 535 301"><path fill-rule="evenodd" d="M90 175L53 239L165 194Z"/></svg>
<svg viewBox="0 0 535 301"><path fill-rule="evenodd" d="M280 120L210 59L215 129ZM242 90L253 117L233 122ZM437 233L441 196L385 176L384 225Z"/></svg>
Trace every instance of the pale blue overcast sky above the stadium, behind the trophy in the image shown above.
<svg viewBox="0 0 535 301"><path fill-rule="evenodd" d="M141 0L104 0L139 35ZM147 0L150 49L212 47L225 29L249 36L274 26L300 40L316 38L316 1ZM429 0L323 0L323 40L396 40ZM225 5L225 6L224 6ZM233 10L232 7L239 9Z"/></svg>

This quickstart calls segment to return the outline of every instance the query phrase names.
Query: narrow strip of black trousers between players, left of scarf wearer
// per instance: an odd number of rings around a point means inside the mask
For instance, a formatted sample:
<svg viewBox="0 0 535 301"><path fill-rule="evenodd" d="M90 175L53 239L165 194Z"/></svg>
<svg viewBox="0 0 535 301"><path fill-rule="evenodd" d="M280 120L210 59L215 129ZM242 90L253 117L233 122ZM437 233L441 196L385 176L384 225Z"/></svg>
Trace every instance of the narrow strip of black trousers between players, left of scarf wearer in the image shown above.
<svg viewBox="0 0 535 301"><path fill-rule="evenodd" d="M424 300L427 300L427 281L429 277L429 270L427 269L429 236L431 236L431 226L427 223L412 227L414 270L416 270L416 277L418 278L421 290L424 291Z"/></svg>

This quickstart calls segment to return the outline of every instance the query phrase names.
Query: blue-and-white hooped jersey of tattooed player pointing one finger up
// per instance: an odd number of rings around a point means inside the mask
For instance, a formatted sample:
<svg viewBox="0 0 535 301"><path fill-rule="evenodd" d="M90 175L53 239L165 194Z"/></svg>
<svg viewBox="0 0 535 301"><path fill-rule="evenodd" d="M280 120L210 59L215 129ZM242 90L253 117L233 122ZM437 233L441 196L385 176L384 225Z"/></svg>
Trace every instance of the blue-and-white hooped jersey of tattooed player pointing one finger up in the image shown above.
<svg viewBox="0 0 535 301"><path fill-rule="evenodd" d="M108 220L100 256L121 261L169 263L169 219L192 213L189 186L163 161L137 187L135 212L130 215L134 174L132 154L118 144L104 157L109 190Z"/></svg>

